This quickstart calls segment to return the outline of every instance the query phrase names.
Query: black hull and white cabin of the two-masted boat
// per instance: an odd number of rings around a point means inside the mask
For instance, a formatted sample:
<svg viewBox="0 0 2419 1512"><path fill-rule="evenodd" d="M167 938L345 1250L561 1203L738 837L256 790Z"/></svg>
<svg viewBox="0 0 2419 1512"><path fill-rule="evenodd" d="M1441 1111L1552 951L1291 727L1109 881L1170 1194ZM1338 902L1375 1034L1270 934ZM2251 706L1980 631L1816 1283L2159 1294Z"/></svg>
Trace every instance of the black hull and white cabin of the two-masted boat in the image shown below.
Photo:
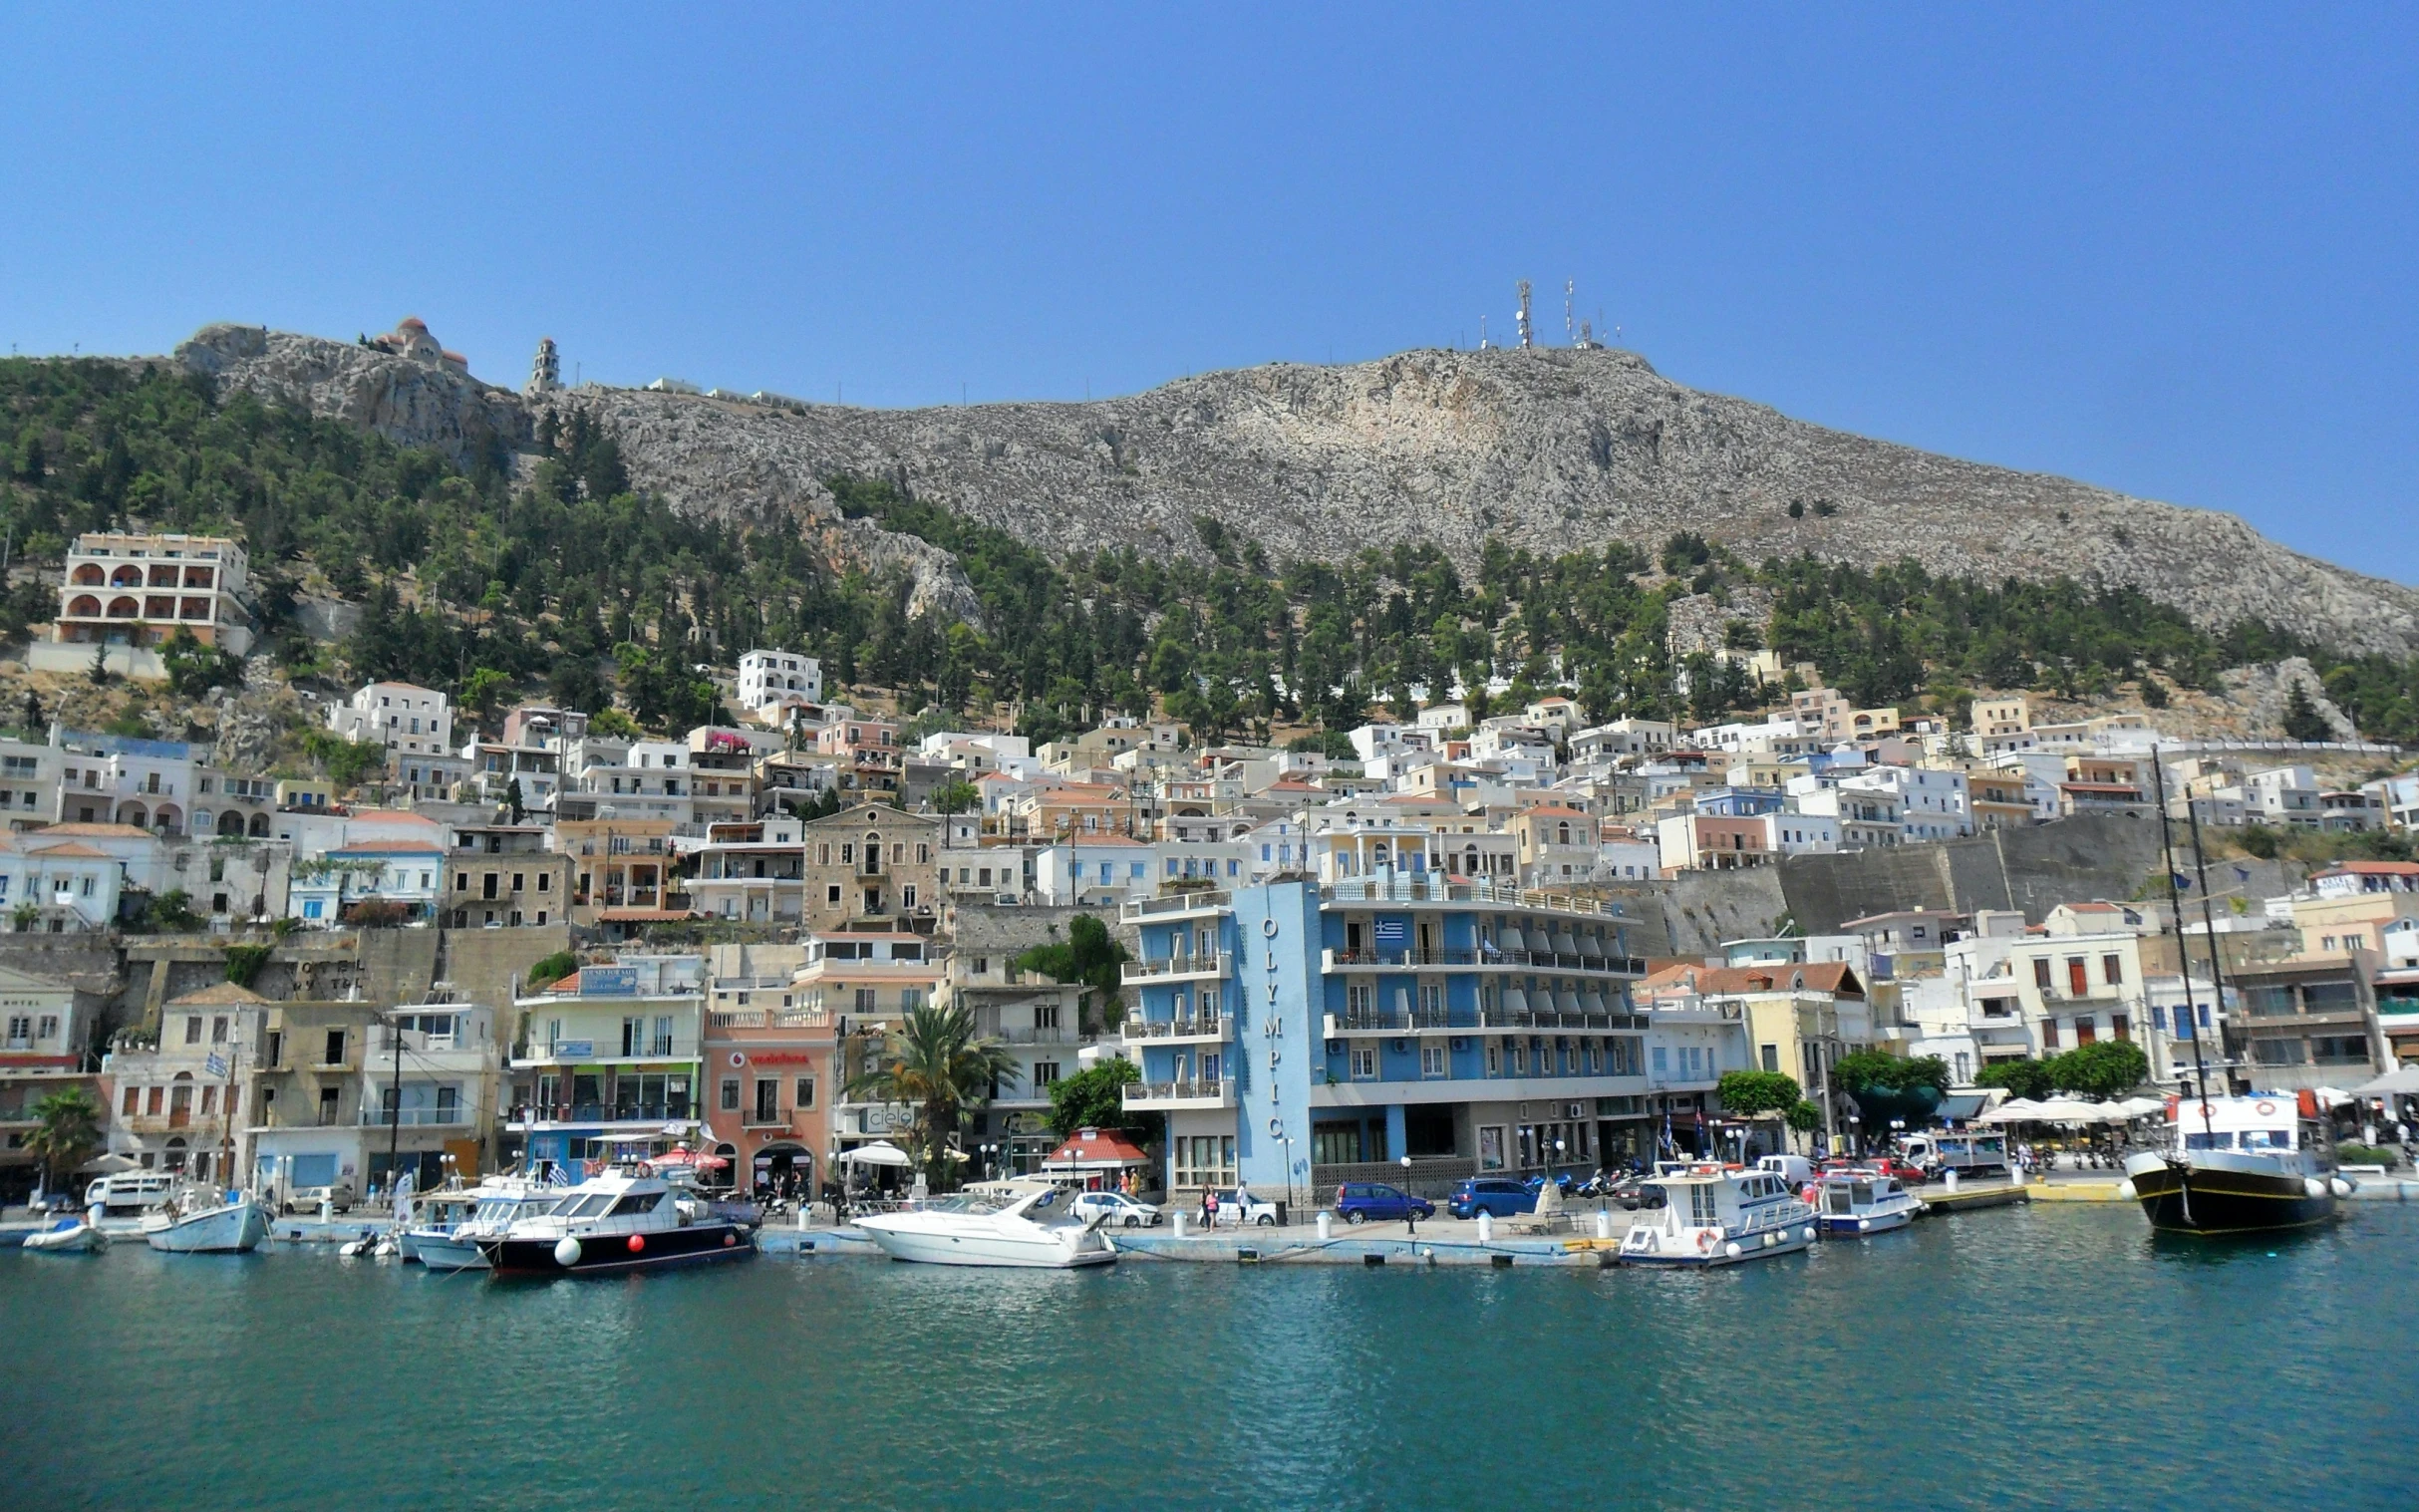
<svg viewBox="0 0 2419 1512"><path fill-rule="evenodd" d="M2337 1176L2317 1096L2170 1098L2170 1147L2131 1154L2119 1195L2170 1234L2308 1229L2334 1217Z"/></svg>

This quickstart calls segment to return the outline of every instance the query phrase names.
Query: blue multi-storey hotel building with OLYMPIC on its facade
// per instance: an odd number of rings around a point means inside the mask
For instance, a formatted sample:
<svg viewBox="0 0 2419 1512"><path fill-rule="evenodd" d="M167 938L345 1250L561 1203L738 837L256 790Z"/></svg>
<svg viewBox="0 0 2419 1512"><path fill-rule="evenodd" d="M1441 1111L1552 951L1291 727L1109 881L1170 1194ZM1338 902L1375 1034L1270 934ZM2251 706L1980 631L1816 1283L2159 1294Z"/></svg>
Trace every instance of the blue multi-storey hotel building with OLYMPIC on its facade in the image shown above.
<svg viewBox="0 0 2419 1512"><path fill-rule="evenodd" d="M1650 1147L1645 1018L1611 905L1447 871L1449 835L1355 823L1311 871L1144 898L1127 1108L1171 1193L1592 1168Z"/></svg>

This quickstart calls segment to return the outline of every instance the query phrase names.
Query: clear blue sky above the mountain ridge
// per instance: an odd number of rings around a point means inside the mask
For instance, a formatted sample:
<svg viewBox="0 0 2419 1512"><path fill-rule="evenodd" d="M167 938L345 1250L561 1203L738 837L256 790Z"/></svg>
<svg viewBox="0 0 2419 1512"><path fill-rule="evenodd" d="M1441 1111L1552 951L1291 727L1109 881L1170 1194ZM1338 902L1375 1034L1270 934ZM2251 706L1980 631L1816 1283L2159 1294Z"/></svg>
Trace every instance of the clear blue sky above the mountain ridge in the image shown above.
<svg viewBox="0 0 2419 1512"><path fill-rule="evenodd" d="M0 341L934 404L1509 329L2419 581L2402 7L12 7ZM1314 10L1316 15L1299 15Z"/></svg>

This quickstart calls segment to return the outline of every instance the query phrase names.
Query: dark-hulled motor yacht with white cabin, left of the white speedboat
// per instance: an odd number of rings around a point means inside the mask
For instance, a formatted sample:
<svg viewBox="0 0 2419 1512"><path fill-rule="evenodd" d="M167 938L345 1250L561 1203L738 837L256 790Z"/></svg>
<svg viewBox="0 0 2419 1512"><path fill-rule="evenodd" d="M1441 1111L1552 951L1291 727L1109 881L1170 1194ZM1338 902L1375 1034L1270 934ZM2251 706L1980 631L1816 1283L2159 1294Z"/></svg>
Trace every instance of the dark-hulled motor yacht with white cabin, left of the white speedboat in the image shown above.
<svg viewBox="0 0 2419 1512"><path fill-rule="evenodd" d="M554 1212L474 1243L496 1275L622 1275L745 1260L755 1231L714 1217L694 1190L619 1166L561 1193Z"/></svg>

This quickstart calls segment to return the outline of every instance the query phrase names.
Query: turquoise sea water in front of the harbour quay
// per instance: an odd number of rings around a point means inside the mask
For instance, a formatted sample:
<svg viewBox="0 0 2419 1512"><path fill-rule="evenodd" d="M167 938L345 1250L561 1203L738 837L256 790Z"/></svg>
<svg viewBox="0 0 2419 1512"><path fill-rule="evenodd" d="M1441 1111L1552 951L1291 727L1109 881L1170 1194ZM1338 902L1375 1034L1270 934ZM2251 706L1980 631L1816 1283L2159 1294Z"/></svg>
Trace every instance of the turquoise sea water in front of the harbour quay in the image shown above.
<svg viewBox="0 0 2419 1512"><path fill-rule="evenodd" d="M0 1251L0 1507L2276 1507L2419 1485L2419 1210L1710 1275Z"/></svg>

